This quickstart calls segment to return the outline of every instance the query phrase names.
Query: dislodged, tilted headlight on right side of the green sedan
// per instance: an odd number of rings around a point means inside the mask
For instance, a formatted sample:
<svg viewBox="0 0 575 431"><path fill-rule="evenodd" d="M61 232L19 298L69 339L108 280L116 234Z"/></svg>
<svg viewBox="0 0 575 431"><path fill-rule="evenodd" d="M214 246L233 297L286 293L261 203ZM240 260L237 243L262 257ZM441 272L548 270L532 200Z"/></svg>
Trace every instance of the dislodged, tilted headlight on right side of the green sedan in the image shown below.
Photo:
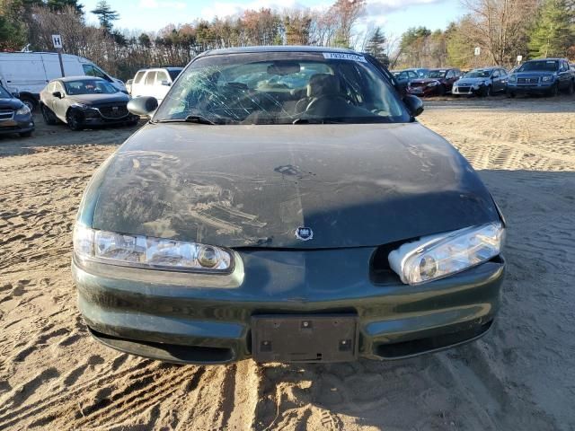
<svg viewBox="0 0 575 431"><path fill-rule="evenodd" d="M422 237L389 253L389 265L403 283L418 285L497 256L504 236L505 229L500 223L490 223Z"/></svg>

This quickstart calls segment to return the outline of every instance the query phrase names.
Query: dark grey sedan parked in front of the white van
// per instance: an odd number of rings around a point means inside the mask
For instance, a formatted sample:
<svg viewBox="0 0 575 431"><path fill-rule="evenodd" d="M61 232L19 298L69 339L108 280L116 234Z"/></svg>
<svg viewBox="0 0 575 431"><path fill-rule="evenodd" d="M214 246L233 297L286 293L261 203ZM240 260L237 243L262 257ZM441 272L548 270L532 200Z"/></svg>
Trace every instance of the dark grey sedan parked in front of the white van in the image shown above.
<svg viewBox="0 0 575 431"><path fill-rule="evenodd" d="M139 118L128 112L128 101L128 94L93 76L58 78L40 92L40 110L46 124L62 121L72 130L136 125Z"/></svg>

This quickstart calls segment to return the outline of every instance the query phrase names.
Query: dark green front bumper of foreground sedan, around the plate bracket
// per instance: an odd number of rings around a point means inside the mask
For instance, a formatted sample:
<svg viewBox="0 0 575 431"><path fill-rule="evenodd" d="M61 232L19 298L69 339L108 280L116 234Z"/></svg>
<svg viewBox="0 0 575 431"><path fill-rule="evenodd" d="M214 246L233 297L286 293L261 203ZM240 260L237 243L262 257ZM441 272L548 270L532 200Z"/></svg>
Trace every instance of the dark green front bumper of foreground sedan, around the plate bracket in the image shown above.
<svg viewBox="0 0 575 431"><path fill-rule="evenodd" d="M252 356L254 315L358 317L358 355L396 359L481 337L500 304L500 258L420 286L376 285L374 249L243 251L228 276L74 261L78 305L93 336L119 350L176 363ZM326 265L326 262L330 262Z"/></svg>

